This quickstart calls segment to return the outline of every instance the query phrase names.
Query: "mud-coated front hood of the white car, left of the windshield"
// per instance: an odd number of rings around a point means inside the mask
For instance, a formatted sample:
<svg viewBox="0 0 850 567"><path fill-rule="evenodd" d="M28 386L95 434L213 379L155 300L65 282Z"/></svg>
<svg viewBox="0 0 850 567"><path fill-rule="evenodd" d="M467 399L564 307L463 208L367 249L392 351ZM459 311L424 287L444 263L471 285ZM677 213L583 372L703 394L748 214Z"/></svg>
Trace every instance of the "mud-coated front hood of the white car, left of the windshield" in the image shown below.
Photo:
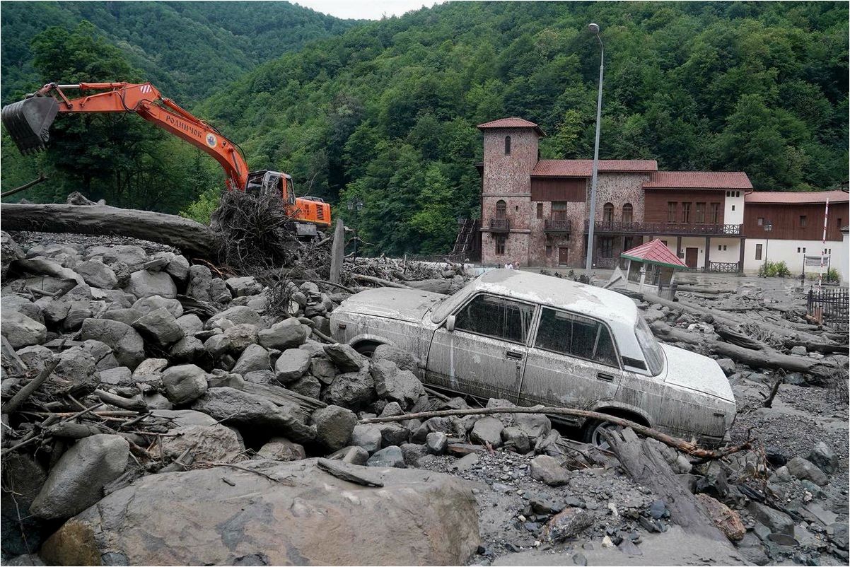
<svg viewBox="0 0 850 567"><path fill-rule="evenodd" d="M348 313L419 322L435 303L447 297L441 293L416 289L379 287L355 293L343 301L340 307Z"/></svg>

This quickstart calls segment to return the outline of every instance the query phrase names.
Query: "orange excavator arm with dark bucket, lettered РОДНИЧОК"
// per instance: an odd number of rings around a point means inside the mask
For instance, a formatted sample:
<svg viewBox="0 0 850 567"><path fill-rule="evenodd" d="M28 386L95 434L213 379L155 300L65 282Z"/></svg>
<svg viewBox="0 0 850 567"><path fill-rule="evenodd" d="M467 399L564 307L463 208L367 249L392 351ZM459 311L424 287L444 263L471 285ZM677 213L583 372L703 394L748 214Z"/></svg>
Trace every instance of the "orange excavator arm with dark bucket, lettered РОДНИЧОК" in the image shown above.
<svg viewBox="0 0 850 567"><path fill-rule="evenodd" d="M99 90L76 99L65 90ZM245 190L248 166L236 145L215 128L163 97L150 82L81 82L44 85L33 96L3 108L3 124L22 153L42 150L57 113L132 112L212 156L227 175L230 190Z"/></svg>

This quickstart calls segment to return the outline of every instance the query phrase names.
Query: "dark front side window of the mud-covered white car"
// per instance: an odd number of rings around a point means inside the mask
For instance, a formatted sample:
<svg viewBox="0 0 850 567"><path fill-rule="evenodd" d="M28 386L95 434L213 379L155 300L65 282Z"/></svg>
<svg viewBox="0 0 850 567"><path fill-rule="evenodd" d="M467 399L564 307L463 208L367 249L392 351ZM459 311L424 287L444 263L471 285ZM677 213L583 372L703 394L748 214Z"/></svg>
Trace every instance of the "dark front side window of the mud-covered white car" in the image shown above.
<svg viewBox="0 0 850 567"><path fill-rule="evenodd" d="M525 343L534 307L490 295L478 295L455 316L455 328L512 343Z"/></svg>

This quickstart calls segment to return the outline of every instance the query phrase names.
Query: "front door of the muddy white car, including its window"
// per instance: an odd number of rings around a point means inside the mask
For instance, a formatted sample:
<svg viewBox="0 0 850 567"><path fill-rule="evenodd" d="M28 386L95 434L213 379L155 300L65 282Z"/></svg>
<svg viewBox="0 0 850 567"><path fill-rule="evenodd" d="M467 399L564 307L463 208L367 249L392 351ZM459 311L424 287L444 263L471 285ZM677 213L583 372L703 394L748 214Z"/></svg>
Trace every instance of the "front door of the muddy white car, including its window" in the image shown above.
<svg viewBox="0 0 850 567"><path fill-rule="evenodd" d="M428 349L426 382L480 398L516 402L535 306L486 293L453 314L452 331L439 327Z"/></svg>

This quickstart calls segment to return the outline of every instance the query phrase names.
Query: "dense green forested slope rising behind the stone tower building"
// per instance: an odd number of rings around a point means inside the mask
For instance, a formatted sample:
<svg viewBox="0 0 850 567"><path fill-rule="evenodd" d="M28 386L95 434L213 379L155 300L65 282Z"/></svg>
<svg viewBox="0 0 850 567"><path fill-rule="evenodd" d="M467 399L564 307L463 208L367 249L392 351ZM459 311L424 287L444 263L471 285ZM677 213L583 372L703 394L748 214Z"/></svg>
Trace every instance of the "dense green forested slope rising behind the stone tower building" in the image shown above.
<svg viewBox="0 0 850 567"><path fill-rule="evenodd" d="M765 190L846 181L847 20L847 3L445 3L307 43L191 110L338 215L362 200L347 221L372 252L445 252L478 213L479 122L522 116L543 157L592 156L590 21L601 157L743 170Z"/></svg>

